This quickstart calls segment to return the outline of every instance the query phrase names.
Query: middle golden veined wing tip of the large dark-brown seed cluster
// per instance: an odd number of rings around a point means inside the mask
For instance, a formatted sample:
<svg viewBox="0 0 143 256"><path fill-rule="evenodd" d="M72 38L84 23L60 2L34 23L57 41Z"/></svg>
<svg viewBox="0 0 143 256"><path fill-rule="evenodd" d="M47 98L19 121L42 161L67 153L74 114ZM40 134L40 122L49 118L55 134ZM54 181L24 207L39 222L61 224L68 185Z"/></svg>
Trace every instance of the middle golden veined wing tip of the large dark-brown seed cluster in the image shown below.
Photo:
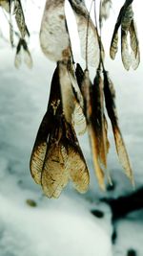
<svg viewBox="0 0 143 256"><path fill-rule="evenodd" d="M61 143L49 145L42 171L42 188L48 198L58 198L69 181L68 154Z"/></svg>

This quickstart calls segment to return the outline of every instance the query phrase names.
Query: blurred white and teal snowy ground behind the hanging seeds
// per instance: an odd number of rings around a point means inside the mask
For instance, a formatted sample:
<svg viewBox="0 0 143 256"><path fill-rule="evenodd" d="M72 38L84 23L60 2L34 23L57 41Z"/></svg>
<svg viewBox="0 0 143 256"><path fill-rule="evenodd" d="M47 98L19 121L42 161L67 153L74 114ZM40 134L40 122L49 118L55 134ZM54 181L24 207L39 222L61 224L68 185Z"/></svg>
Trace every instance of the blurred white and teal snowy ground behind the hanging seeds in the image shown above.
<svg viewBox="0 0 143 256"><path fill-rule="evenodd" d="M45 198L31 178L29 162L35 135L48 104L54 65L33 49L34 66L13 67L13 54L0 48L0 256L125 256L130 248L143 255L143 211L117 223L112 247L112 213L99 198L132 192L115 154L112 133L109 170L116 184L101 193L92 172L87 136L80 139L92 173L91 188L79 195L69 185L57 199ZM141 64L126 72L120 55L107 62L117 95L120 126L130 153L136 187L143 185L143 84ZM34 207L28 199L35 202ZM104 212L102 219L92 209Z"/></svg>

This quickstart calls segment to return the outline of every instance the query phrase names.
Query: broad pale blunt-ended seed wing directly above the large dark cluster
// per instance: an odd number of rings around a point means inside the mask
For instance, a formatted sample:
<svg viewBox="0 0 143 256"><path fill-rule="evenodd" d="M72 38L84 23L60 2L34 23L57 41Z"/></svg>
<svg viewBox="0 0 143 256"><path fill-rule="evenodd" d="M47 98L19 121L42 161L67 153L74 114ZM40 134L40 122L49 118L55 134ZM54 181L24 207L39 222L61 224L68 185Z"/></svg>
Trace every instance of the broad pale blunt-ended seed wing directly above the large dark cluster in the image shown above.
<svg viewBox="0 0 143 256"><path fill-rule="evenodd" d="M41 23L41 48L46 57L53 61L70 57L64 3L64 0L47 0Z"/></svg>

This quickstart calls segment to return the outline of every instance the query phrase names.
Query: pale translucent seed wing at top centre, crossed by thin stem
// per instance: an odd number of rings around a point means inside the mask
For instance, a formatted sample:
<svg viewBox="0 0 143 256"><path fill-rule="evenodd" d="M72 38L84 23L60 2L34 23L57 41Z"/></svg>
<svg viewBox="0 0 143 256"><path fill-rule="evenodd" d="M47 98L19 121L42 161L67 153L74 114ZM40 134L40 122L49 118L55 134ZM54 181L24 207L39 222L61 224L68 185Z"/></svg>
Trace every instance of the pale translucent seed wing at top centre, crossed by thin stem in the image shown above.
<svg viewBox="0 0 143 256"><path fill-rule="evenodd" d="M97 67L99 64L100 50L98 43L97 30L92 23L92 19L89 17L84 1L69 0L72 10L75 14L77 29L80 39L81 54L86 59L88 52L88 62L91 66ZM89 27L88 27L89 26ZM88 38L87 38L88 27ZM88 40L88 49L87 49ZM103 47L102 47L103 48Z"/></svg>

